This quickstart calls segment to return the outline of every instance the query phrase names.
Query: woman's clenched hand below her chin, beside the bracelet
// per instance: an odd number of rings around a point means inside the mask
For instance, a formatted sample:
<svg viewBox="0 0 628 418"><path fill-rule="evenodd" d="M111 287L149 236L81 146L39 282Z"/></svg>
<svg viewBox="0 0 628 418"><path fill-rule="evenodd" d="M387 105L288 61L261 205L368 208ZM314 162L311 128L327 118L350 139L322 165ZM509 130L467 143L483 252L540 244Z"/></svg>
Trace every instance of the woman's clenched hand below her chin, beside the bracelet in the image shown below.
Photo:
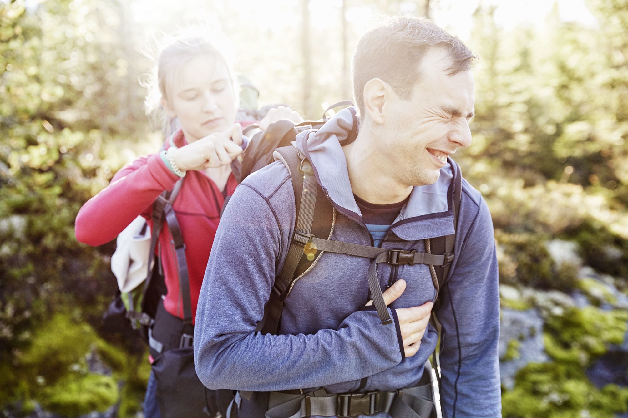
<svg viewBox="0 0 628 418"><path fill-rule="evenodd" d="M231 164L242 154L242 127L235 123L225 132L214 132L176 149L175 164L180 170L204 170Z"/></svg>

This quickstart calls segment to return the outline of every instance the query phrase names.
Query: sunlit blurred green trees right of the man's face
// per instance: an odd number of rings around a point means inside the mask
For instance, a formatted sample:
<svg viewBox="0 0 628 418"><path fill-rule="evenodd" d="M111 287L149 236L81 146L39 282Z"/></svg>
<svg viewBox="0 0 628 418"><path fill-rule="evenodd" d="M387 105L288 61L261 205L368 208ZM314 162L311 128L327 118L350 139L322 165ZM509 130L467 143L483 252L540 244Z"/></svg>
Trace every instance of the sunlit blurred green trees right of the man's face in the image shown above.
<svg viewBox="0 0 628 418"><path fill-rule="evenodd" d="M509 32L495 23L494 8L475 13L470 46L482 57L482 71L469 165L526 185L569 180L610 191L625 205L628 64L618 23L625 4L591 3L600 27L608 24L603 31L562 23L557 9L543 28Z"/></svg>

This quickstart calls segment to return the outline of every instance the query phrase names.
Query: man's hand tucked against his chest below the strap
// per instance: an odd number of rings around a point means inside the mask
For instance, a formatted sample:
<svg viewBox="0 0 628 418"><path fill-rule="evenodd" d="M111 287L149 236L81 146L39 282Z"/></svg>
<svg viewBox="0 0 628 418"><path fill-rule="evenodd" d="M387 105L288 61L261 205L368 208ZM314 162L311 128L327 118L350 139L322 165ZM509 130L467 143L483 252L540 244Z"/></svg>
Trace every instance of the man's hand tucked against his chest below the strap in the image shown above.
<svg viewBox="0 0 628 418"><path fill-rule="evenodd" d="M403 279L399 279L393 286L387 288L383 293L386 306L397 300L404 290L406 290L406 281ZM373 301L367 303L367 305L372 304ZM423 338L423 334L425 334L426 327L430 321L430 313L433 305L431 301L427 301L420 306L395 310L399 320L399 330L401 330L403 350L406 357L412 357L419 351L421 338Z"/></svg>

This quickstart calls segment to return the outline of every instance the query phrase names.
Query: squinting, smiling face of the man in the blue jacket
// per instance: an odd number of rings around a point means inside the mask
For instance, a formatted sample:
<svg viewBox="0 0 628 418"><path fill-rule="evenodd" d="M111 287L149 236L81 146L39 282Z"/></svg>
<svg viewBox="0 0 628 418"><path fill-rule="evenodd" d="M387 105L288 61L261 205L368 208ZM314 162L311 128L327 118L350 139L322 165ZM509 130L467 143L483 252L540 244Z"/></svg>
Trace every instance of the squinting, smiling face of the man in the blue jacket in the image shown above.
<svg viewBox="0 0 628 418"><path fill-rule="evenodd" d="M471 71L448 76L447 51L432 48L421 61L422 80L409 100L396 95L386 101L383 135L404 185L433 184L448 155L471 144L469 120L474 115L475 83Z"/></svg>

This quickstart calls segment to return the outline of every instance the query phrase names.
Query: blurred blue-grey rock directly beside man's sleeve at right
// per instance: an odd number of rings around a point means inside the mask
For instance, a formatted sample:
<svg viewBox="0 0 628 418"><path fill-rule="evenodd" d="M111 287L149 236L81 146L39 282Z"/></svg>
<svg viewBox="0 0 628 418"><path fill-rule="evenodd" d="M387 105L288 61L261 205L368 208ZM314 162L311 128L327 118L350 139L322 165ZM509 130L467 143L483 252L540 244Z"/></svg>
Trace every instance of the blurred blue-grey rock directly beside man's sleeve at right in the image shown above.
<svg viewBox="0 0 628 418"><path fill-rule="evenodd" d="M512 340L519 341L519 356L502 361L499 365L502 385L511 390L514 387L514 376L521 368L531 362L546 362L549 358L543 343L543 318L535 310L502 309L501 316L499 357L506 355Z"/></svg>

